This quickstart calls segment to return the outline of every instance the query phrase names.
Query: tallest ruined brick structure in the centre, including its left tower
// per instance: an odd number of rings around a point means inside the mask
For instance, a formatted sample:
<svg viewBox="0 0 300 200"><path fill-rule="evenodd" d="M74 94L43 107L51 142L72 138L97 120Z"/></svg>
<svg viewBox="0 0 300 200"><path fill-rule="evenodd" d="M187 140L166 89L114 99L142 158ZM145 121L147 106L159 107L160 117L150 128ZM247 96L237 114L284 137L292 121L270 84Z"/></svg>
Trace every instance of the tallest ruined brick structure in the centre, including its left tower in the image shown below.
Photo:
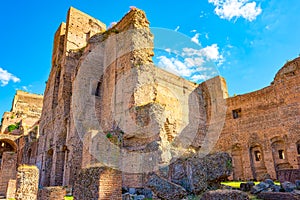
<svg viewBox="0 0 300 200"><path fill-rule="evenodd" d="M99 161L107 164L101 159L112 160L114 152L121 166L127 166L123 185L142 187L143 168L149 167L143 166L146 162L135 166L138 158L120 160L120 152L98 144L99 139L128 154L158 152L153 165L167 165L173 155L201 147L210 123L207 119L216 117L219 109L212 104L221 104L227 90L221 78L199 87L154 66L153 35L143 11L132 9L103 33L103 24L95 26L98 21L86 17L71 8L66 25L61 24L55 34L40 123L37 165L41 184L72 185L81 167ZM100 28L95 31L95 27ZM72 48L77 50L70 51ZM87 82L78 84L82 76ZM74 106L74 94L93 101ZM205 106L213 111L208 113ZM89 107L93 109L87 110ZM78 133L74 118L78 110L86 115L85 120L96 118L102 132ZM216 121L211 121L214 129L218 128ZM106 149L101 149L103 146Z"/></svg>

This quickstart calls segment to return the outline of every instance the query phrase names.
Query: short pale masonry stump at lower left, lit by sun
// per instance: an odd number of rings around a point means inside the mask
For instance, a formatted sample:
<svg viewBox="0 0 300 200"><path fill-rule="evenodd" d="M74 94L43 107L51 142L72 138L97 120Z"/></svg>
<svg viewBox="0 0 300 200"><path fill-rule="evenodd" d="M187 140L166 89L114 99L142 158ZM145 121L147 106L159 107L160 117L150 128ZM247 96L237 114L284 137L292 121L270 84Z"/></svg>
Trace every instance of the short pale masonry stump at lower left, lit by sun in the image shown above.
<svg viewBox="0 0 300 200"><path fill-rule="evenodd" d="M17 172L16 200L36 200L39 170L36 166L21 165Z"/></svg>

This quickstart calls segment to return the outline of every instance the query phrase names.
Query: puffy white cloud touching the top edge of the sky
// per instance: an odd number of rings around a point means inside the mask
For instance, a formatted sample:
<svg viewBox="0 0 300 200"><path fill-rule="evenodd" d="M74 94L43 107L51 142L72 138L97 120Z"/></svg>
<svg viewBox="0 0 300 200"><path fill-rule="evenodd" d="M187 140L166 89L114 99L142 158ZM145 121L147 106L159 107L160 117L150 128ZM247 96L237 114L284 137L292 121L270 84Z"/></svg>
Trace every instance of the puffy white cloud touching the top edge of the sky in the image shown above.
<svg viewBox="0 0 300 200"><path fill-rule="evenodd" d="M256 5L255 1L249 0L208 0L216 6L215 13L222 19L231 20L236 17L243 17L248 21L253 21L261 14L262 9Z"/></svg>

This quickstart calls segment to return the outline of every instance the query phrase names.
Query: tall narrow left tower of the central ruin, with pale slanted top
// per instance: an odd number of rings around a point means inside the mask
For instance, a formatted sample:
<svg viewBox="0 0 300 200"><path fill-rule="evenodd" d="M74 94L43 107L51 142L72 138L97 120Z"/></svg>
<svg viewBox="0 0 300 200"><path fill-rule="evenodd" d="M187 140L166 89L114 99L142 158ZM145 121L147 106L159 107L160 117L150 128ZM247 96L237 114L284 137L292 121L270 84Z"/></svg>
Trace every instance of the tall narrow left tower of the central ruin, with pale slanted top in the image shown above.
<svg viewBox="0 0 300 200"><path fill-rule="evenodd" d="M104 30L103 23L71 7L66 24L62 23L55 33L52 68L45 89L44 109L40 122L41 135L37 158L43 186L68 185L69 176L64 179L64 174L76 175L80 169L81 158L76 158L77 162L65 162L65 159L70 158L68 152L81 152L78 136L69 135L72 123L71 77L76 72L80 49L86 45L91 36ZM67 138L74 143L67 146ZM81 156L81 153L79 154Z"/></svg>

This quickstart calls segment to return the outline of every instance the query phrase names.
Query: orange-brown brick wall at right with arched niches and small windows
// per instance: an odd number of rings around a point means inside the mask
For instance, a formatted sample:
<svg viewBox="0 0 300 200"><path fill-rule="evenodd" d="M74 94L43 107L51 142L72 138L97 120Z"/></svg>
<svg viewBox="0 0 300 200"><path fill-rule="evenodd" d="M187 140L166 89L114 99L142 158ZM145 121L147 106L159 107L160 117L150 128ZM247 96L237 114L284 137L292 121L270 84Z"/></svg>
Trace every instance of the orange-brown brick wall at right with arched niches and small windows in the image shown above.
<svg viewBox="0 0 300 200"><path fill-rule="evenodd" d="M288 62L261 90L227 99L226 122L216 150L231 152L235 179L276 178L299 168L300 58Z"/></svg>

